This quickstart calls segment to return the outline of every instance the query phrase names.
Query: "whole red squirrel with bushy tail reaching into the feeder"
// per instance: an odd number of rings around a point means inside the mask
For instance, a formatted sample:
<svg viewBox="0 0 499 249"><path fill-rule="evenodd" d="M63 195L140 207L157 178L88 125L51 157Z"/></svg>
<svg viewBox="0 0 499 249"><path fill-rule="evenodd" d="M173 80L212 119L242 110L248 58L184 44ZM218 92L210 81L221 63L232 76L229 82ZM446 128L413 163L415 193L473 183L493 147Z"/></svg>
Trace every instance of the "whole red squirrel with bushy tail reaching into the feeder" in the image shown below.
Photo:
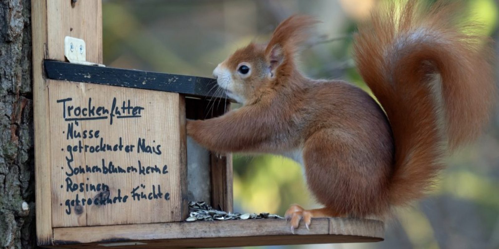
<svg viewBox="0 0 499 249"><path fill-rule="evenodd" d="M243 106L188 121L187 133L217 152L273 153L304 167L324 207L286 212L291 229L312 217L375 217L424 196L453 149L476 138L496 95L487 37L457 18L456 4L379 6L359 24L353 54L379 104L341 80L314 80L296 57L317 22L293 15L266 44L220 63L218 85Z"/></svg>

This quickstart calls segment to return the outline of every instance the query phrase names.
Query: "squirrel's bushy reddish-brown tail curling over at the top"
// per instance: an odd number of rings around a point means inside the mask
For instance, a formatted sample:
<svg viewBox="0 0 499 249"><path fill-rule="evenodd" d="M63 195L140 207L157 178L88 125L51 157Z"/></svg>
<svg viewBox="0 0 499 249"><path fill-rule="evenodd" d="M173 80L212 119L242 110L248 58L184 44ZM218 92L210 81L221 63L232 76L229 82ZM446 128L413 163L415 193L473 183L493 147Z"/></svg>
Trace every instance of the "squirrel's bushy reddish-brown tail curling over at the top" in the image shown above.
<svg viewBox="0 0 499 249"><path fill-rule="evenodd" d="M392 3L375 10L355 38L360 74L393 130L392 205L422 197L447 149L471 141L489 120L491 42L463 25L457 10L442 1Z"/></svg>

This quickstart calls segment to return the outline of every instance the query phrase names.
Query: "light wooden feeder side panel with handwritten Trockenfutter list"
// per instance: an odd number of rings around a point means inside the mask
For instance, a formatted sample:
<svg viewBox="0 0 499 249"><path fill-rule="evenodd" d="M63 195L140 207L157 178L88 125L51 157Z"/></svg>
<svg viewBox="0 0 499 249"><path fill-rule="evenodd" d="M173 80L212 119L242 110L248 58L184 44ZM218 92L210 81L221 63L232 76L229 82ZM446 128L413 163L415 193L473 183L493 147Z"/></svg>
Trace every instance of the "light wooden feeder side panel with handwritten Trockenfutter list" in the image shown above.
<svg viewBox="0 0 499 249"><path fill-rule="evenodd" d="M53 227L182 220L179 94L50 80L49 100Z"/></svg>

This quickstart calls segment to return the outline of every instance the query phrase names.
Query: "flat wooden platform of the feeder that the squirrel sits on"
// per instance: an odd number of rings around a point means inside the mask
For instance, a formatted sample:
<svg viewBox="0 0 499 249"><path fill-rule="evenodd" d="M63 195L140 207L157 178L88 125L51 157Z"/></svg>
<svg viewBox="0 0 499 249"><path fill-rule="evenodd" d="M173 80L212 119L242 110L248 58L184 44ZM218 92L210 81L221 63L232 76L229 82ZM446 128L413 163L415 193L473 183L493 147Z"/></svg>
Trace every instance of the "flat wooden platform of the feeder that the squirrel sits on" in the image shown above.
<svg viewBox="0 0 499 249"><path fill-rule="evenodd" d="M291 233L284 219L169 222L156 224L54 229L59 248L164 249L268 245L366 243L383 241L383 222L367 219L315 218Z"/></svg>

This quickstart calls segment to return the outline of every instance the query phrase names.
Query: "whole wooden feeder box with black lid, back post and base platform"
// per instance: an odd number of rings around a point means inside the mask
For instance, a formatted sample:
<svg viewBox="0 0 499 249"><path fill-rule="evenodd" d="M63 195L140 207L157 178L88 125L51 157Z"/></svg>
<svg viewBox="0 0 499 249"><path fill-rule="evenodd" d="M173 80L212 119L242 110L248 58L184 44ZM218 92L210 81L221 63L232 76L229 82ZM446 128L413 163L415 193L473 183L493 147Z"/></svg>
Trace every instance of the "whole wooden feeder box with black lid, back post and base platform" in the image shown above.
<svg viewBox="0 0 499 249"><path fill-rule="evenodd" d="M102 63L101 0L31 4L39 246L213 248L383 240L383 223L374 220L317 218L310 230L301 226L294 234L283 219L183 221L188 201L233 211L231 155L215 155L186 136L186 119L228 110L230 103L210 95L214 80L82 65ZM81 40L72 44L67 36ZM80 54L65 56L74 51ZM76 63L65 62L69 57ZM213 111L209 101L217 101Z"/></svg>

